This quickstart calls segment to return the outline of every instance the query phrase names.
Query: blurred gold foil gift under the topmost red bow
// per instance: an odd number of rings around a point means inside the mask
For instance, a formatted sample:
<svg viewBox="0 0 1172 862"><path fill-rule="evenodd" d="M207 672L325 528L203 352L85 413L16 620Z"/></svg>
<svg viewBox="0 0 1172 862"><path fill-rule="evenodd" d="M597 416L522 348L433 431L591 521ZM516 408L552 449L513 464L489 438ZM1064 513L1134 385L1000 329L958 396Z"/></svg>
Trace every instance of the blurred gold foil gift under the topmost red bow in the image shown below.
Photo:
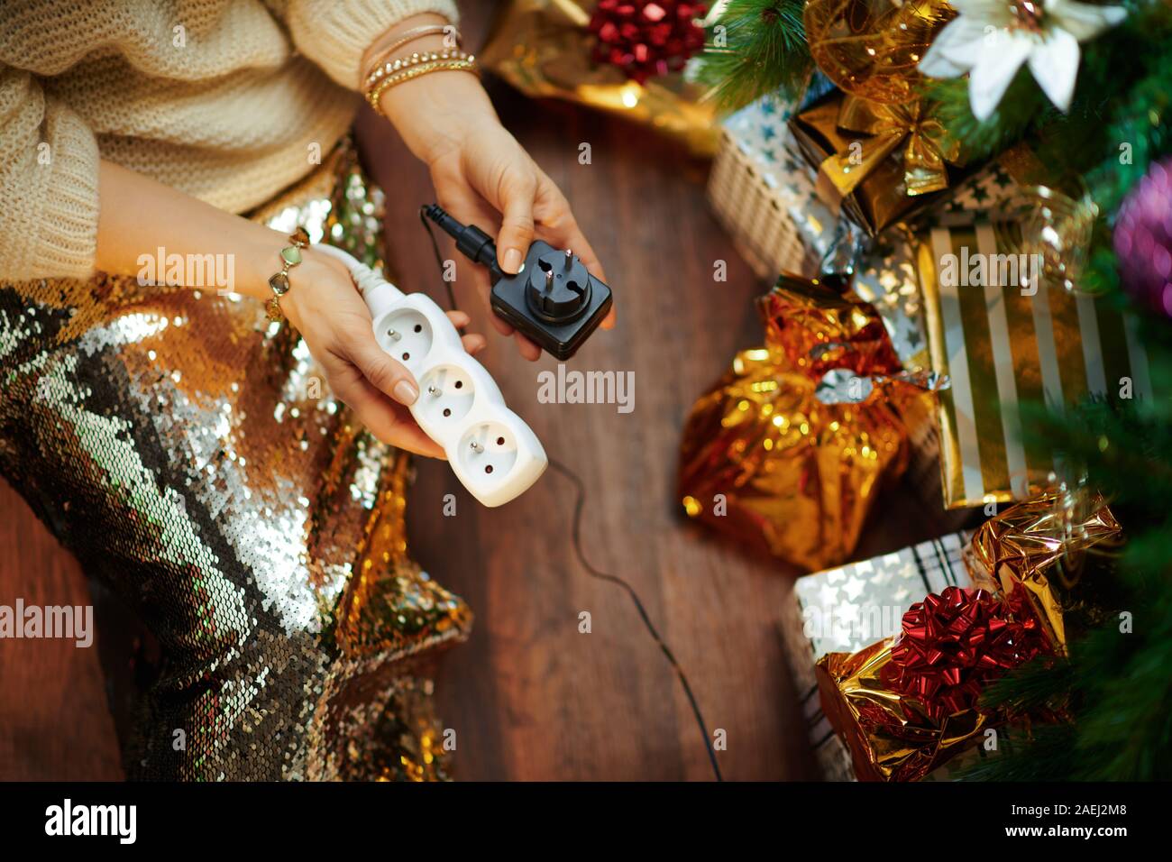
<svg viewBox="0 0 1172 862"><path fill-rule="evenodd" d="M590 25L597 6L597 0L502 4L481 62L525 95L599 108L682 141L697 155L715 154L714 107L701 101L703 89L682 70L668 68L640 82L595 60L599 40Z"/></svg>

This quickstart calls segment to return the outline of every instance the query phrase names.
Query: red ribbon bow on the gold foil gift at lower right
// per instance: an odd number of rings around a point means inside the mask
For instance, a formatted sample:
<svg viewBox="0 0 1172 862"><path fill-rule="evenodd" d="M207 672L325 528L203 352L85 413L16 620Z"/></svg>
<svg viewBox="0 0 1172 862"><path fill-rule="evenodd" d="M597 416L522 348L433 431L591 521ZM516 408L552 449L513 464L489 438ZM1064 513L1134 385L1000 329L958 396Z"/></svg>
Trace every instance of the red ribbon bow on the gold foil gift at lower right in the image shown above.
<svg viewBox="0 0 1172 862"><path fill-rule="evenodd" d="M988 683L1044 650L1037 619L1022 610L984 590L928 595L904 615L884 683L935 721L975 707Z"/></svg>

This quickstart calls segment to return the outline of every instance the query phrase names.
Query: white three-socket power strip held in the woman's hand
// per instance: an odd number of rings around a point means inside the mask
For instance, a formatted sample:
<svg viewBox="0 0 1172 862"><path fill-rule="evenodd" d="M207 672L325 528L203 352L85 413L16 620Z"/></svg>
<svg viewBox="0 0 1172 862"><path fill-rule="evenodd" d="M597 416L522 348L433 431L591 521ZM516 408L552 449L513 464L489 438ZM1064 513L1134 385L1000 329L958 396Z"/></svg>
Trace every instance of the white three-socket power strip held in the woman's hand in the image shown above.
<svg viewBox="0 0 1172 862"><path fill-rule="evenodd" d="M443 447L456 477L484 505L524 494L550 463L541 441L505 406L443 310L422 293L404 294L341 249L314 247L346 264L370 308L379 346L415 375L420 398L411 415Z"/></svg>

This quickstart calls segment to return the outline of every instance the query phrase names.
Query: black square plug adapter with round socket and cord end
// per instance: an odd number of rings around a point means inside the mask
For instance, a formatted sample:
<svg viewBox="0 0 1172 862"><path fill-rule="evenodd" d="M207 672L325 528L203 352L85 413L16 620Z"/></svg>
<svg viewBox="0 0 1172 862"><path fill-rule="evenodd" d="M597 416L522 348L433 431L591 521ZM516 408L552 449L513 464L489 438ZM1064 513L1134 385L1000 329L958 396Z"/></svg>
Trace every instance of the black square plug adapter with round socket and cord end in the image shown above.
<svg viewBox="0 0 1172 862"><path fill-rule="evenodd" d="M489 269L497 317L551 355L570 359L611 310L611 289L568 249L534 240L520 270L510 276L497 265L497 246L483 230L461 224L437 204L422 211L456 239L464 257Z"/></svg>

